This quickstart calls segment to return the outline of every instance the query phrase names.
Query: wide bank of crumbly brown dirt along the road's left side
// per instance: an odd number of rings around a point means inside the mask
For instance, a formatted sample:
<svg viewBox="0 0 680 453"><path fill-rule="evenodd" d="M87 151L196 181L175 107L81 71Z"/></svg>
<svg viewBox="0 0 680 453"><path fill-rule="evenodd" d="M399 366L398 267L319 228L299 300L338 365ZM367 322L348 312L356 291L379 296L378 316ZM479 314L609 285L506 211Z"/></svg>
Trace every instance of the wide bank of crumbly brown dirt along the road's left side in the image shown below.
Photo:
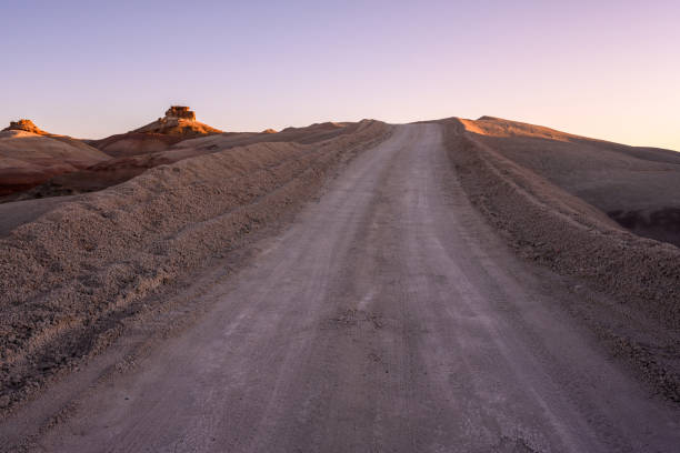
<svg viewBox="0 0 680 453"><path fill-rule="evenodd" d="M31 205L48 213L0 239L0 379L11 383L0 404L103 348L126 319L162 309L148 296L298 209L389 132L364 121L316 144L231 148L56 208Z"/></svg>

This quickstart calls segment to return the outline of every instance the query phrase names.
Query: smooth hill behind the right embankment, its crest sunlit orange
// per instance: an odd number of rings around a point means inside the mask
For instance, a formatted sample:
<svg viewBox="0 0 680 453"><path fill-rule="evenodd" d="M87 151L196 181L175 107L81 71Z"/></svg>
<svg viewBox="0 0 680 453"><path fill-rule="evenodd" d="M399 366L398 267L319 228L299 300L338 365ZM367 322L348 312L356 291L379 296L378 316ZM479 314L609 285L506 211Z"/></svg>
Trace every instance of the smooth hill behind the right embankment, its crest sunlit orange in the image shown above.
<svg viewBox="0 0 680 453"><path fill-rule="evenodd" d="M680 245L680 153L482 117L469 135L632 232Z"/></svg>

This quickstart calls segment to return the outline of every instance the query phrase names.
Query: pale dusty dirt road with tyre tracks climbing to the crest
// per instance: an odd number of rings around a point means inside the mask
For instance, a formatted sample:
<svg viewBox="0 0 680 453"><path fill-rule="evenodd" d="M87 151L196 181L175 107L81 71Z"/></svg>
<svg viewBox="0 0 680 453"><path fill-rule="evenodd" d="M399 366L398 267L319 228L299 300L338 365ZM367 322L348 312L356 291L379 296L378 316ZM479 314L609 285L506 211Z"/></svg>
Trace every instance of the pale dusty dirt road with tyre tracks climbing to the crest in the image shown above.
<svg viewBox="0 0 680 453"><path fill-rule="evenodd" d="M436 124L398 127L207 296L194 328L38 451L680 445L676 406L566 313L578 293L516 259L469 204Z"/></svg>

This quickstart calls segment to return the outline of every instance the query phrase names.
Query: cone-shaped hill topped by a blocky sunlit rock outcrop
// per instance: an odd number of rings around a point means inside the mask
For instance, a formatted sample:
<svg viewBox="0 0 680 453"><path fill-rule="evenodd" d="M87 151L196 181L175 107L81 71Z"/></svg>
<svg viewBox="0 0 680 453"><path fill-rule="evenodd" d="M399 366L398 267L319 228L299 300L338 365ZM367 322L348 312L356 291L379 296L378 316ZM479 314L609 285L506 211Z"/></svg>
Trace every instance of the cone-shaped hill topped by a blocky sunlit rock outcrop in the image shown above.
<svg viewBox="0 0 680 453"><path fill-rule="evenodd" d="M92 140L90 144L113 158L122 158L162 151L182 140L216 133L222 131L196 121L196 113L188 107L172 105L163 118L128 133Z"/></svg>

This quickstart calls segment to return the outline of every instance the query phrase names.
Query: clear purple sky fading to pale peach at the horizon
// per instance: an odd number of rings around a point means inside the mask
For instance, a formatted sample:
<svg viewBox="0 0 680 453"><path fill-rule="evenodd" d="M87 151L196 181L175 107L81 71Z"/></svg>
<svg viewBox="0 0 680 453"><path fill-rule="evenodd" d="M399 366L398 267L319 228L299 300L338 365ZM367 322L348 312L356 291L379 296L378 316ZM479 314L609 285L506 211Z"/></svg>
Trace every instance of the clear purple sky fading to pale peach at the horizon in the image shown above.
<svg viewBox="0 0 680 453"><path fill-rule="evenodd" d="M0 123L101 138L482 114L680 150L680 1L14 1Z"/></svg>

